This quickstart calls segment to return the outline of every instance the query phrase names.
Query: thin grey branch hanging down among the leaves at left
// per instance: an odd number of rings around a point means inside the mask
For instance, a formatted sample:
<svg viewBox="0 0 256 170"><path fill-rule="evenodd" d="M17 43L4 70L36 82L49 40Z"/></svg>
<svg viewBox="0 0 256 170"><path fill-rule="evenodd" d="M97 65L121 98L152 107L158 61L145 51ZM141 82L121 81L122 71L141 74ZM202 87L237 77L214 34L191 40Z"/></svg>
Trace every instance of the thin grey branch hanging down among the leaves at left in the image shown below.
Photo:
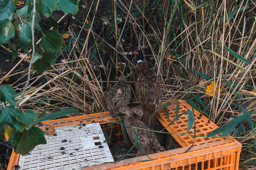
<svg viewBox="0 0 256 170"><path fill-rule="evenodd" d="M29 67L28 67L28 75L27 75L27 83L22 91L22 94L16 104L17 108L19 108L19 103L22 101L22 99L24 98L24 94L25 94L25 90L29 84L29 80L30 80L30 72L31 72L31 66L32 66L32 63L33 63L33 58L34 58L34 55L35 55L35 35L34 35L34 23L35 23L35 17L36 17L36 0L33 0L33 17L32 17L32 24L31 24L31 32L32 32L32 56L31 56L31 60L30 60L30 63L29 63Z"/></svg>

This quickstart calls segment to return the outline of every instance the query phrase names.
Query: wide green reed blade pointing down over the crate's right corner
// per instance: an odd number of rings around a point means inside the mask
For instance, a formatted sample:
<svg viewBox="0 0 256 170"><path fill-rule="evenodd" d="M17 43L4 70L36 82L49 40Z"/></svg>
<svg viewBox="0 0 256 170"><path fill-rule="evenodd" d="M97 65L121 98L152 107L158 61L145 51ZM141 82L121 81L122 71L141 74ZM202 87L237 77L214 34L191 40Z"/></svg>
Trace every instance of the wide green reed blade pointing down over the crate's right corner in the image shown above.
<svg viewBox="0 0 256 170"><path fill-rule="evenodd" d="M241 110L243 111L244 114L242 114L241 116L238 116L237 118L235 118L233 120L230 120L222 127L219 127L217 129L211 131L210 133L208 133L206 135L206 137L210 137L210 136L214 136L214 135L226 132L230 128L236 127L239 123L241 123L243 120L247 119L247 117L250 116L250 113L248 113L242 106L241 106Z"/></svg>

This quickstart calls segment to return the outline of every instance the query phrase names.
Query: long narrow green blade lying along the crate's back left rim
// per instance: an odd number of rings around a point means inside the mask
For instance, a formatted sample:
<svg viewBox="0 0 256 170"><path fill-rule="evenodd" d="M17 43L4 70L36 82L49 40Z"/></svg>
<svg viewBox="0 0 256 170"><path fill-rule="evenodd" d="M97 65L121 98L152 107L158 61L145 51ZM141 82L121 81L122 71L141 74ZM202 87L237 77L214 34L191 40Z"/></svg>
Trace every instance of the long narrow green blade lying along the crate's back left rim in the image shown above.
<svg viewBox="0 0 256 170"><path fill-rule="evenodd" d="M55 118L60 117L60 116L65 116L67 114L78 113L78 112L79 112L78 109L74 109L74 108L59 110L59 111L56 111L52 114L48 114L48 115L46 115L42 118L37 119L35 121L35 123L39 123L39 122L50 120L50 119L55 119Z"/></svg>

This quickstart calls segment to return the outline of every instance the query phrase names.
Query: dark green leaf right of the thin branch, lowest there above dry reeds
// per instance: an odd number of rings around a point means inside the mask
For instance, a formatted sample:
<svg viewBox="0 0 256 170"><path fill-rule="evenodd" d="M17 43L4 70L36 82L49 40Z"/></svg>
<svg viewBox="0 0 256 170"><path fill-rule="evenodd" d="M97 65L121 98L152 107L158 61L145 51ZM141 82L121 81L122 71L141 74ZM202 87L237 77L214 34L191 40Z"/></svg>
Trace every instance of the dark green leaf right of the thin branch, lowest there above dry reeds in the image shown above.
<svg viewBox="0 0 256 170"><path fill-rule="evenodd" d="M46 68L49 68L53 63L53 54L50 52L43 52L42 58L37 59L37 61L33 64L33 67L37 70L37 73L43 73Z"/></svg>

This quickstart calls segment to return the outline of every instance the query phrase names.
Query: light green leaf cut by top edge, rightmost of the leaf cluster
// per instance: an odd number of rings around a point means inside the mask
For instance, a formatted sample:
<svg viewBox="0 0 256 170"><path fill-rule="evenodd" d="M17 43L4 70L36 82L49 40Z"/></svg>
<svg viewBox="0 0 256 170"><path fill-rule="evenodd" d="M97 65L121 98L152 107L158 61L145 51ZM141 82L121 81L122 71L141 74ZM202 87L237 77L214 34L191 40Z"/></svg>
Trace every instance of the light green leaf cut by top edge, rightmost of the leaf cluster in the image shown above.
<svg viewBox="0 0 256 170"><path fill-rule="evenodd" d="M57 9L62 10L65 14L75 15L78 11L78 0L60 0L57 3Z"/></svg>

